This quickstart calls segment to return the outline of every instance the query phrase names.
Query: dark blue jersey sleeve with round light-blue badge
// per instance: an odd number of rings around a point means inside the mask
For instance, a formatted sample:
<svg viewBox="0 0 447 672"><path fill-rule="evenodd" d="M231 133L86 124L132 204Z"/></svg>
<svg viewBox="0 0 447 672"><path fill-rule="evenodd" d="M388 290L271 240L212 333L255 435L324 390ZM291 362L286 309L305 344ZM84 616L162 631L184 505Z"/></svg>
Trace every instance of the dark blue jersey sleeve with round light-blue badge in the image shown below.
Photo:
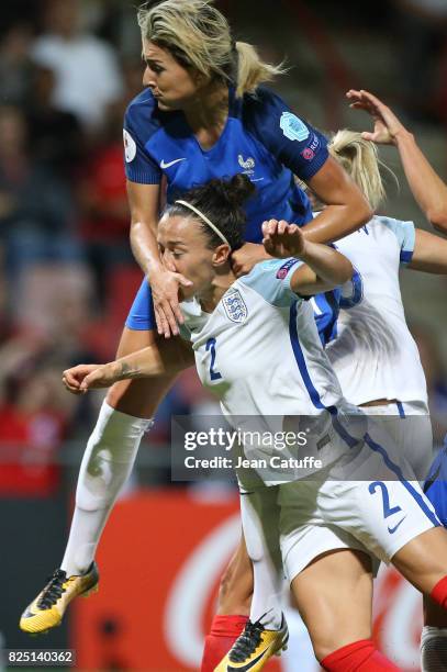
<svg viewBox="0 0 447 672"><path fill-rule="evenodd" d="M311 179L328 158L324 135L267 89L260 88L248 105L247 123L268 152L301 180Z"/></svg>

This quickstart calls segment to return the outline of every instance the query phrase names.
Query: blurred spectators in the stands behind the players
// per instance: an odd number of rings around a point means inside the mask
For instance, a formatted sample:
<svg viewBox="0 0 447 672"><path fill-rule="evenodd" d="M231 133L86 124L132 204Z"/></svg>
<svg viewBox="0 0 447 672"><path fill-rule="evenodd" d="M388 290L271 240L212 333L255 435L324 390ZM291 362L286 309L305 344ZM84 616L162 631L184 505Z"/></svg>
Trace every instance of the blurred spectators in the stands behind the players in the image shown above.
<svg viewBox="0 0 447 672"><path fill-rule="evenodd" d="M220 4L225 10L231 2ZM422 116L447 119L446 7L444 0L399 0L411 45L407 57L402 54L403 94L414 96L417 78L421 97L409 107ZM417 40L410 40L415 30ZM427 54L437 59L436 79L424 71L432 63ZM142 88L142 74L131 3L16 0L4 8L0 493L51 492L58 472L47 464L65 440L83 439L94 423L96 397L66 393L60 373L80 361L113 358L142 280L128 245L121 141L124 110ZM442 418L447 378L428 335L422 327L416 335ZM150 443L169 439L171 414L200 412L209 403L194 372L187 372L163 403Z"/></svg>

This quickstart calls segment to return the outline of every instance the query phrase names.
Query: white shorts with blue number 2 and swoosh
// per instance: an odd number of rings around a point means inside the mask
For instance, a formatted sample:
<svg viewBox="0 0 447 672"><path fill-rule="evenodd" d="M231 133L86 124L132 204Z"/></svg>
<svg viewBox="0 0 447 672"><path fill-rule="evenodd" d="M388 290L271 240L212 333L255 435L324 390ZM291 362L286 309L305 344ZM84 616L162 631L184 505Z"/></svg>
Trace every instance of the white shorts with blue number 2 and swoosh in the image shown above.
<svg viewBox="0 0 447 672"><path fill-rule="evenodd" d="M379 473L382 468L381 480L302 480L279 486L281 553L289 581L321 553L339 548L390 562L405 544L439 525L417 481L400 480L400 467L380 445L369 443L367 470Z"/></svg>

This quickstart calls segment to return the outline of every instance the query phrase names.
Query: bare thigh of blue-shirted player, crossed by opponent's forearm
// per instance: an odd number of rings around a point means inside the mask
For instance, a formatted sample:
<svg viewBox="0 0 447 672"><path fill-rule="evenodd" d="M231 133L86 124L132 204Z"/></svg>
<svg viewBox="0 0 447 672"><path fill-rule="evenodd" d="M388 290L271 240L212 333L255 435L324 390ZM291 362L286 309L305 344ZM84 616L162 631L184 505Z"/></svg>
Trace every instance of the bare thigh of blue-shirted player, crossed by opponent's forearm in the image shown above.
<svg viewBox="0 0 447 672"><path fill-rule="evenodd" d="M154 331L138 331L124 327L116 357L125 357L156 343ZM158 404L166 395L177 376L185 370L179 362L178 370L169 374L138 380L122 380L115 383L108 393L108 403L127 415L135 417L153 417Z"/></svg>

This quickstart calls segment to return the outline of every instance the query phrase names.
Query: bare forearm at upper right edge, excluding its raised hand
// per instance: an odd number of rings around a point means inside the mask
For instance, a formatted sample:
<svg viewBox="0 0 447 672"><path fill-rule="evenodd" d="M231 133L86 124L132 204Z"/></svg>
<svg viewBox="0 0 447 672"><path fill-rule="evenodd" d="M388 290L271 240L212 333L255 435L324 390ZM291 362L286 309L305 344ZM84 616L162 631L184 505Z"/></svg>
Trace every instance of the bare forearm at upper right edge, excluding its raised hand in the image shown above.
<svg viewBox="0 0 447 672"><path fill-rule="evenodd" d="M394 138L410 189L435 228L447 233L447 186L432 168L411 133Z"/></svg>

